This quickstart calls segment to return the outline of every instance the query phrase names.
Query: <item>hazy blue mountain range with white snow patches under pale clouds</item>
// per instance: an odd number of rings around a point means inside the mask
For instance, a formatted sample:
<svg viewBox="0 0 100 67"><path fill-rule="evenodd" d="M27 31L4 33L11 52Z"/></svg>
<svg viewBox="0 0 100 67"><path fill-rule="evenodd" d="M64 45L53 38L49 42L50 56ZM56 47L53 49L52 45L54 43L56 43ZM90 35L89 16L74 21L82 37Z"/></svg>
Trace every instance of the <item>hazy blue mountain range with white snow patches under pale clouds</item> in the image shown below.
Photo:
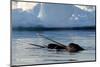
<svg viewBox="0 0 100 67"><path fill-rule="evenodd" d="M88 8L89 9L89 8ZM75 5L39 3L33 9L12 9L13 27L81 27L95 25L95 10Z"/></svg>

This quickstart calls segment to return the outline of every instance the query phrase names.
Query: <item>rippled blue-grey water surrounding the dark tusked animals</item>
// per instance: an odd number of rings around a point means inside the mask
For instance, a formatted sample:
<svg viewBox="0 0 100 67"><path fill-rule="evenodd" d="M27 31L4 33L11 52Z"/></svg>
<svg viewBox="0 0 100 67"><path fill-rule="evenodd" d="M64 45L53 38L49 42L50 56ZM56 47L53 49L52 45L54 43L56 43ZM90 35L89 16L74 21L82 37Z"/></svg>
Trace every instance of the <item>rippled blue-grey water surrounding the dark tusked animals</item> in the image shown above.
<svg viewBox="0 0 100 67"><path fill-rule="evenodd" d="M12 65L46 64L77 61L95 60L95 31L42 31L45 35L55 41L68 45L77 43L84 51L69 53L66 51L57 52L55 49L40 48L30 43L46 46L53 43L34 31L13 31L12 32Z"/></svg>

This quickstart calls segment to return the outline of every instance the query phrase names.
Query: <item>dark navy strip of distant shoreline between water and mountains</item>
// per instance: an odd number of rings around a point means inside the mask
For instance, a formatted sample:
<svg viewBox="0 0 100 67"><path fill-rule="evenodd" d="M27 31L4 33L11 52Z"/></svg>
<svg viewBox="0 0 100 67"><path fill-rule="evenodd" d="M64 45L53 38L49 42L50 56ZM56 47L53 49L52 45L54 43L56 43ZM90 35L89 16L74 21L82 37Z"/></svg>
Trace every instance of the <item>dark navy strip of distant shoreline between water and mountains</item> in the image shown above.
<svg viewBox="0 0 100 67"><path fill-rule="evenodd" d="M84 27L16 27L16 31L60 31L60 30L96 30L95 26Z"/></svg>

